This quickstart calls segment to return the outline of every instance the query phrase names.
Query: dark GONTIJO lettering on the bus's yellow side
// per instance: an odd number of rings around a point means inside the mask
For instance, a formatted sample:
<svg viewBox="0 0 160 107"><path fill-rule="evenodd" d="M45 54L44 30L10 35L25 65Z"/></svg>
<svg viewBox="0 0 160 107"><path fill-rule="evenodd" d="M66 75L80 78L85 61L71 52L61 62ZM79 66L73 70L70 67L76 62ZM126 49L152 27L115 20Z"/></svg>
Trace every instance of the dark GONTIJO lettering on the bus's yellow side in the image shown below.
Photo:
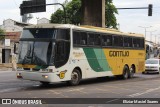
<svg viewBox="0 0 160 107"><path fill-rule="evenodd" d="M110 57L128 57L129 51L109 51Z"/></svg>

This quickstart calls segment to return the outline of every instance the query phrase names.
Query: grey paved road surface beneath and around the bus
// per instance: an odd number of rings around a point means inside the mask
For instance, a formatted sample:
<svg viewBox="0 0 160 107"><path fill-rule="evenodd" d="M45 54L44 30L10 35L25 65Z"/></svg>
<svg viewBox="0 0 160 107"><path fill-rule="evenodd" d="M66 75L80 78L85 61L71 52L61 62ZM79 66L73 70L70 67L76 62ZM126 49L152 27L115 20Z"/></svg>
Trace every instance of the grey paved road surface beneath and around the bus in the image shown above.
<svg viewBox="0 0 160 107"><path fill-rule="evenodd" d="M129 80L119 80L114 77L110 77L105 80L94 78L84 80L78 86L67 86L64 82L54 83L46 87L41 85L39 82L17 80L15 72L13 71L1 71L0 98L160 98L160 75L136 74L133 79ZM45 106L106 107L106 105L94 104ZM135 105L112 104L110 106L124 107ZM148 104L140 106L149 107L152 105ZM39 105L37 107L39 107Z"/></svg>

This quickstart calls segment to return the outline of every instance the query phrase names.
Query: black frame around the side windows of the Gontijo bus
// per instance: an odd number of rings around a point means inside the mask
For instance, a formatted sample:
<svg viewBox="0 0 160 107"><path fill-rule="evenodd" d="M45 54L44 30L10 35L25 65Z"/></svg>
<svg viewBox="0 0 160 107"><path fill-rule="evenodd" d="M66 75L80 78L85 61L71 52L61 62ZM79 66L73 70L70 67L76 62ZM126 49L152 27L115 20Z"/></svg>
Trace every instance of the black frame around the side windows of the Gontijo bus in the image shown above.
<svg viewBox="0 0 160 107"><path fill-rule="evenodd" d="M74 33L75 32L79 32L79 33L86 33L86 44L82 45L82 44L75 44L76 39L74 39ZM89 40L89 34L93 34L93 42L95 42L95 38L100 38L99 40L99 44L95 44L92 45L90 44L90 40ZM98 36L95 36L98 35ZM73 29L72 31L72 37L73 37L73 47L93 47L93 48L113 48L113 49L137 49L137 50L141 50L145 48L145 39L144 37L136 37L136 36L129 36L129 35L119 35L119 34L113 34L113 33L103 33L103 32L92 32L92 31L86 31L86 30L77 30L77 29ZM115 41L114 41L114 37L117 37L118 39L118 44L115 45ZM79 37L80 38L80 37ZM127 38L126 40L129 41L129 45L128 47L124 45L125 43L125 38ZM108 43L108 45L103 45L104 42L107 42L107 40L110 40L110 42ZM136 42L135 42L136 41ZM142 42L143 41L143 42ZM139 47L133 47L133 43L139 44ZM143 45L142 45L142 44ZM140 46L141 44L141 46Z"/></svg>

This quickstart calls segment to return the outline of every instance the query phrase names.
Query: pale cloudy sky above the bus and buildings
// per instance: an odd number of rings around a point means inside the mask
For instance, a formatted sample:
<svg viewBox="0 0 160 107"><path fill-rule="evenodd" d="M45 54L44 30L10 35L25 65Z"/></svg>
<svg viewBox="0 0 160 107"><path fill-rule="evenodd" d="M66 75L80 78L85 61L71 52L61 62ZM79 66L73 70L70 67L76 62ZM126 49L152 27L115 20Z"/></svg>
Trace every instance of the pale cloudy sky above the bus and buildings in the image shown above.
<svg viewBox="0 0 160 107"><path fill-rule="evenodd" d="M21 21L19 6L23 0L0 0L0 25L3 20L13 19ZM65 0L46 0L47 3L63 3ZM113 4L117 8L130 8L130 7L148 7L148 4L153 4L153 14L148 16L147 9L141 10L118 10L119 14L116 15L117 23L119 23L120 31L145 34L147 28L146 39L160 43L160 0L113 0ZM36 24L38 18L48 18L60 6L47 6L47 11L42 13L33 13L33 18L29 23ZM141 26L141 27L139 27ZM155 31L156 30L156 31ZM151 32L152 36L150 36ZM152 38L150 38L152 37ZM156 39L156 40L155 40Z"/></svg>

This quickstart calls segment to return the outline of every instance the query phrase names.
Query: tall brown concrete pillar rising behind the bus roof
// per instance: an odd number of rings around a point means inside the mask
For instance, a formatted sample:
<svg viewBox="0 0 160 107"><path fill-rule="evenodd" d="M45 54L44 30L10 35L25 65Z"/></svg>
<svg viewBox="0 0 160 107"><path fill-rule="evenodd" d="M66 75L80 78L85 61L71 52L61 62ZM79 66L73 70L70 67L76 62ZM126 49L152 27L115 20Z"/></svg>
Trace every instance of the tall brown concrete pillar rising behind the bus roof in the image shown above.
<svg viewBox="0 0 160 107"><path fill-rule="evenodd" d="M83 25L105 27L105 0L82 0Z"/></svg>

